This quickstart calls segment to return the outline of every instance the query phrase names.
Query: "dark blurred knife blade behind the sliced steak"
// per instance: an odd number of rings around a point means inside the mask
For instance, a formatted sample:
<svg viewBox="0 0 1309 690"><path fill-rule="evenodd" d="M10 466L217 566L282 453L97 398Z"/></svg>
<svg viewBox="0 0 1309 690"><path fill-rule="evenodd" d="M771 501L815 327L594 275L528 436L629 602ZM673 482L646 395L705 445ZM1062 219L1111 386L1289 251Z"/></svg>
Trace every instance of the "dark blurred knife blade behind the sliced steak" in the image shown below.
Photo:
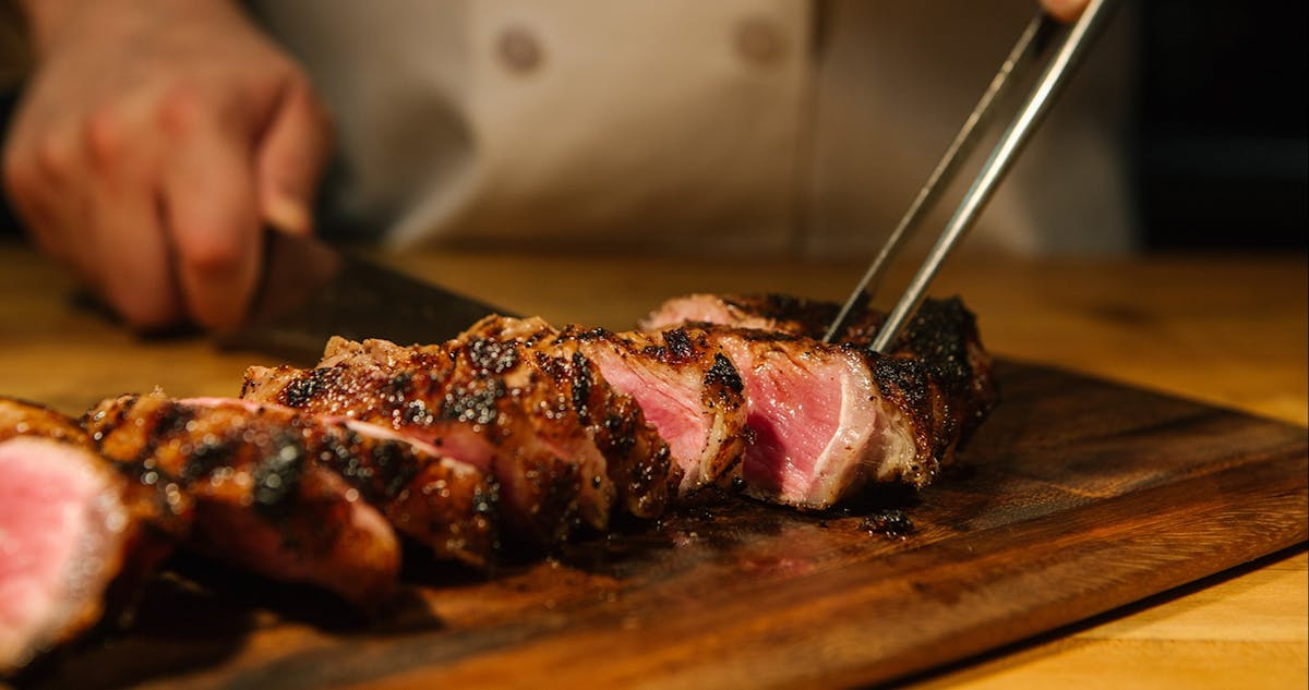
<svg viewBox="0 0 1309 690"><path fill-rule="evenodd" d="M319 239L267 230L263 281L247 316L215 340L313 363L331 336L442 342L490 314L509 312Z"/></svg>

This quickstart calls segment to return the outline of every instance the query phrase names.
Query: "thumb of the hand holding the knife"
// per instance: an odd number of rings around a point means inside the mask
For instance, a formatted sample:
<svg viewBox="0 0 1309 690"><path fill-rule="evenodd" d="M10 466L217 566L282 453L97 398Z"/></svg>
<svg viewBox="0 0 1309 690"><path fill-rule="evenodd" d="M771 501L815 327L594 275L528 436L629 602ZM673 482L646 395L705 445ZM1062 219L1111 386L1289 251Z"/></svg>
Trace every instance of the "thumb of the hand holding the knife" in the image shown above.
<svg viewBox="0 0 1309 690"><path fill-rule="evenodd" d="M268 225L297 235L313 233L313 200L331 153L327 110L308 85L283 95L259 145L259 213Z"/></svg>

